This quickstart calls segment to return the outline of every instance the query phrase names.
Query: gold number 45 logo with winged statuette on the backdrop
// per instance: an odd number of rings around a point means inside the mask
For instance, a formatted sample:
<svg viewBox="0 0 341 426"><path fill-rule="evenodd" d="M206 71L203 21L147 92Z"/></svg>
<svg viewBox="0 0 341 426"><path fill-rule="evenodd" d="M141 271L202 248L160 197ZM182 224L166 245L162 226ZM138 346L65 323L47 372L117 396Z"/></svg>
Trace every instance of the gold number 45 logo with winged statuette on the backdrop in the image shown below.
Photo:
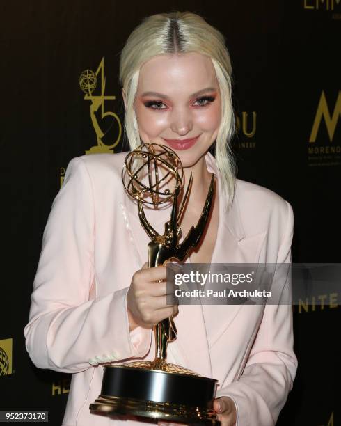
<svg viewBox="0 0 341 426"><path fill-rule="evenodd" d="M94 95L98 87L97 78L100 74L100 94ZM86 154L94 154L97 152L113 153L113 148L120 142L122 134L122 125L120 118L113 111L105 111L104 104L106 100L115 100L116 96L105 95L105 77L104 77L104 58L100 62L96 72L85 70L79 77L79 86L85 93L84 100L90 101L90 118L95 130L97 145L94 145ZM97 112L100 109L100 114ZM100 116L100 117L98 117ZM100 118L100 122L99 122ZM101 123L102 121L102 123ZM104 122L109 128L104 130ZM111 129L117 127L117 136L111 136ZM116 138L116 139L115 139ZM114 140L113 140L114 139Z"/></svg>

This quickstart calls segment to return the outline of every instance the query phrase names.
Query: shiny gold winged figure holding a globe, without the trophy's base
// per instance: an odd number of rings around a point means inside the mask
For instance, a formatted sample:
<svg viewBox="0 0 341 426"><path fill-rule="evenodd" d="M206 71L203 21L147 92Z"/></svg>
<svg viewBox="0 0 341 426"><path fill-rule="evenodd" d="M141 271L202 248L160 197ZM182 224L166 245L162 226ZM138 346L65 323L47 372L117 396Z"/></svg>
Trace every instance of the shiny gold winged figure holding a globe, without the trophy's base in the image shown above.
<svg viewBox="0 0 341 426"><path fill-rule="evenodd" d="M159 168L164 168L166 173L159 178ZM177 197L182 190L183 170L180 158L177 154L165 145L157 143L143 143L132 152L129 152L125 158L122 167L122 183L125 185L127 193L138 202L138 217L145 232L150 237L148 244L148 267L164 265L166 260L176 259L180 262L189 253L192 247L196 247L203 235L208 220L209 212L212 207L214 196L214 175L209 185L209 191L196 226L191 226L186 237L180 244L180 225L179 221L184 210L189 195L189 187L192 182L192 175L189 179L187 191L182 200L182 206L178 213ZM148 184L143 183L143 178L148 176ZM163 189L165 182L175 179L173 192L167 187ZM169 179L167 181L167 179ZM166 203L173 199L170 220L164 225L164 234L160 235L148 222L143 203L152 203L155 206ZM151 201L150 201L151 200ZM154 365L159 366L166 362L166 347L168 342L176 338L177 329L173 317L166 318L154 326L155 336L155 360Z"/></svg>

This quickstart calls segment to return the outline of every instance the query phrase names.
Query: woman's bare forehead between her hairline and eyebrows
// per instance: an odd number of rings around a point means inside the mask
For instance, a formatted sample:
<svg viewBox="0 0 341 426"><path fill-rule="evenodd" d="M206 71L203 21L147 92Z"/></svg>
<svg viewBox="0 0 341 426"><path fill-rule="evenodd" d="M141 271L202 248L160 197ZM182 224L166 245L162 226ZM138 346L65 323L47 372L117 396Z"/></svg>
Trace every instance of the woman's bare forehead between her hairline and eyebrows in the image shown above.
<svg viewBox="0 0 341 426"><path fill-rule="evenodd" d="M194 93L208 86L218 87L209 56L197 52L160 55L145 62L138 78L138 92Z"/></svg>

